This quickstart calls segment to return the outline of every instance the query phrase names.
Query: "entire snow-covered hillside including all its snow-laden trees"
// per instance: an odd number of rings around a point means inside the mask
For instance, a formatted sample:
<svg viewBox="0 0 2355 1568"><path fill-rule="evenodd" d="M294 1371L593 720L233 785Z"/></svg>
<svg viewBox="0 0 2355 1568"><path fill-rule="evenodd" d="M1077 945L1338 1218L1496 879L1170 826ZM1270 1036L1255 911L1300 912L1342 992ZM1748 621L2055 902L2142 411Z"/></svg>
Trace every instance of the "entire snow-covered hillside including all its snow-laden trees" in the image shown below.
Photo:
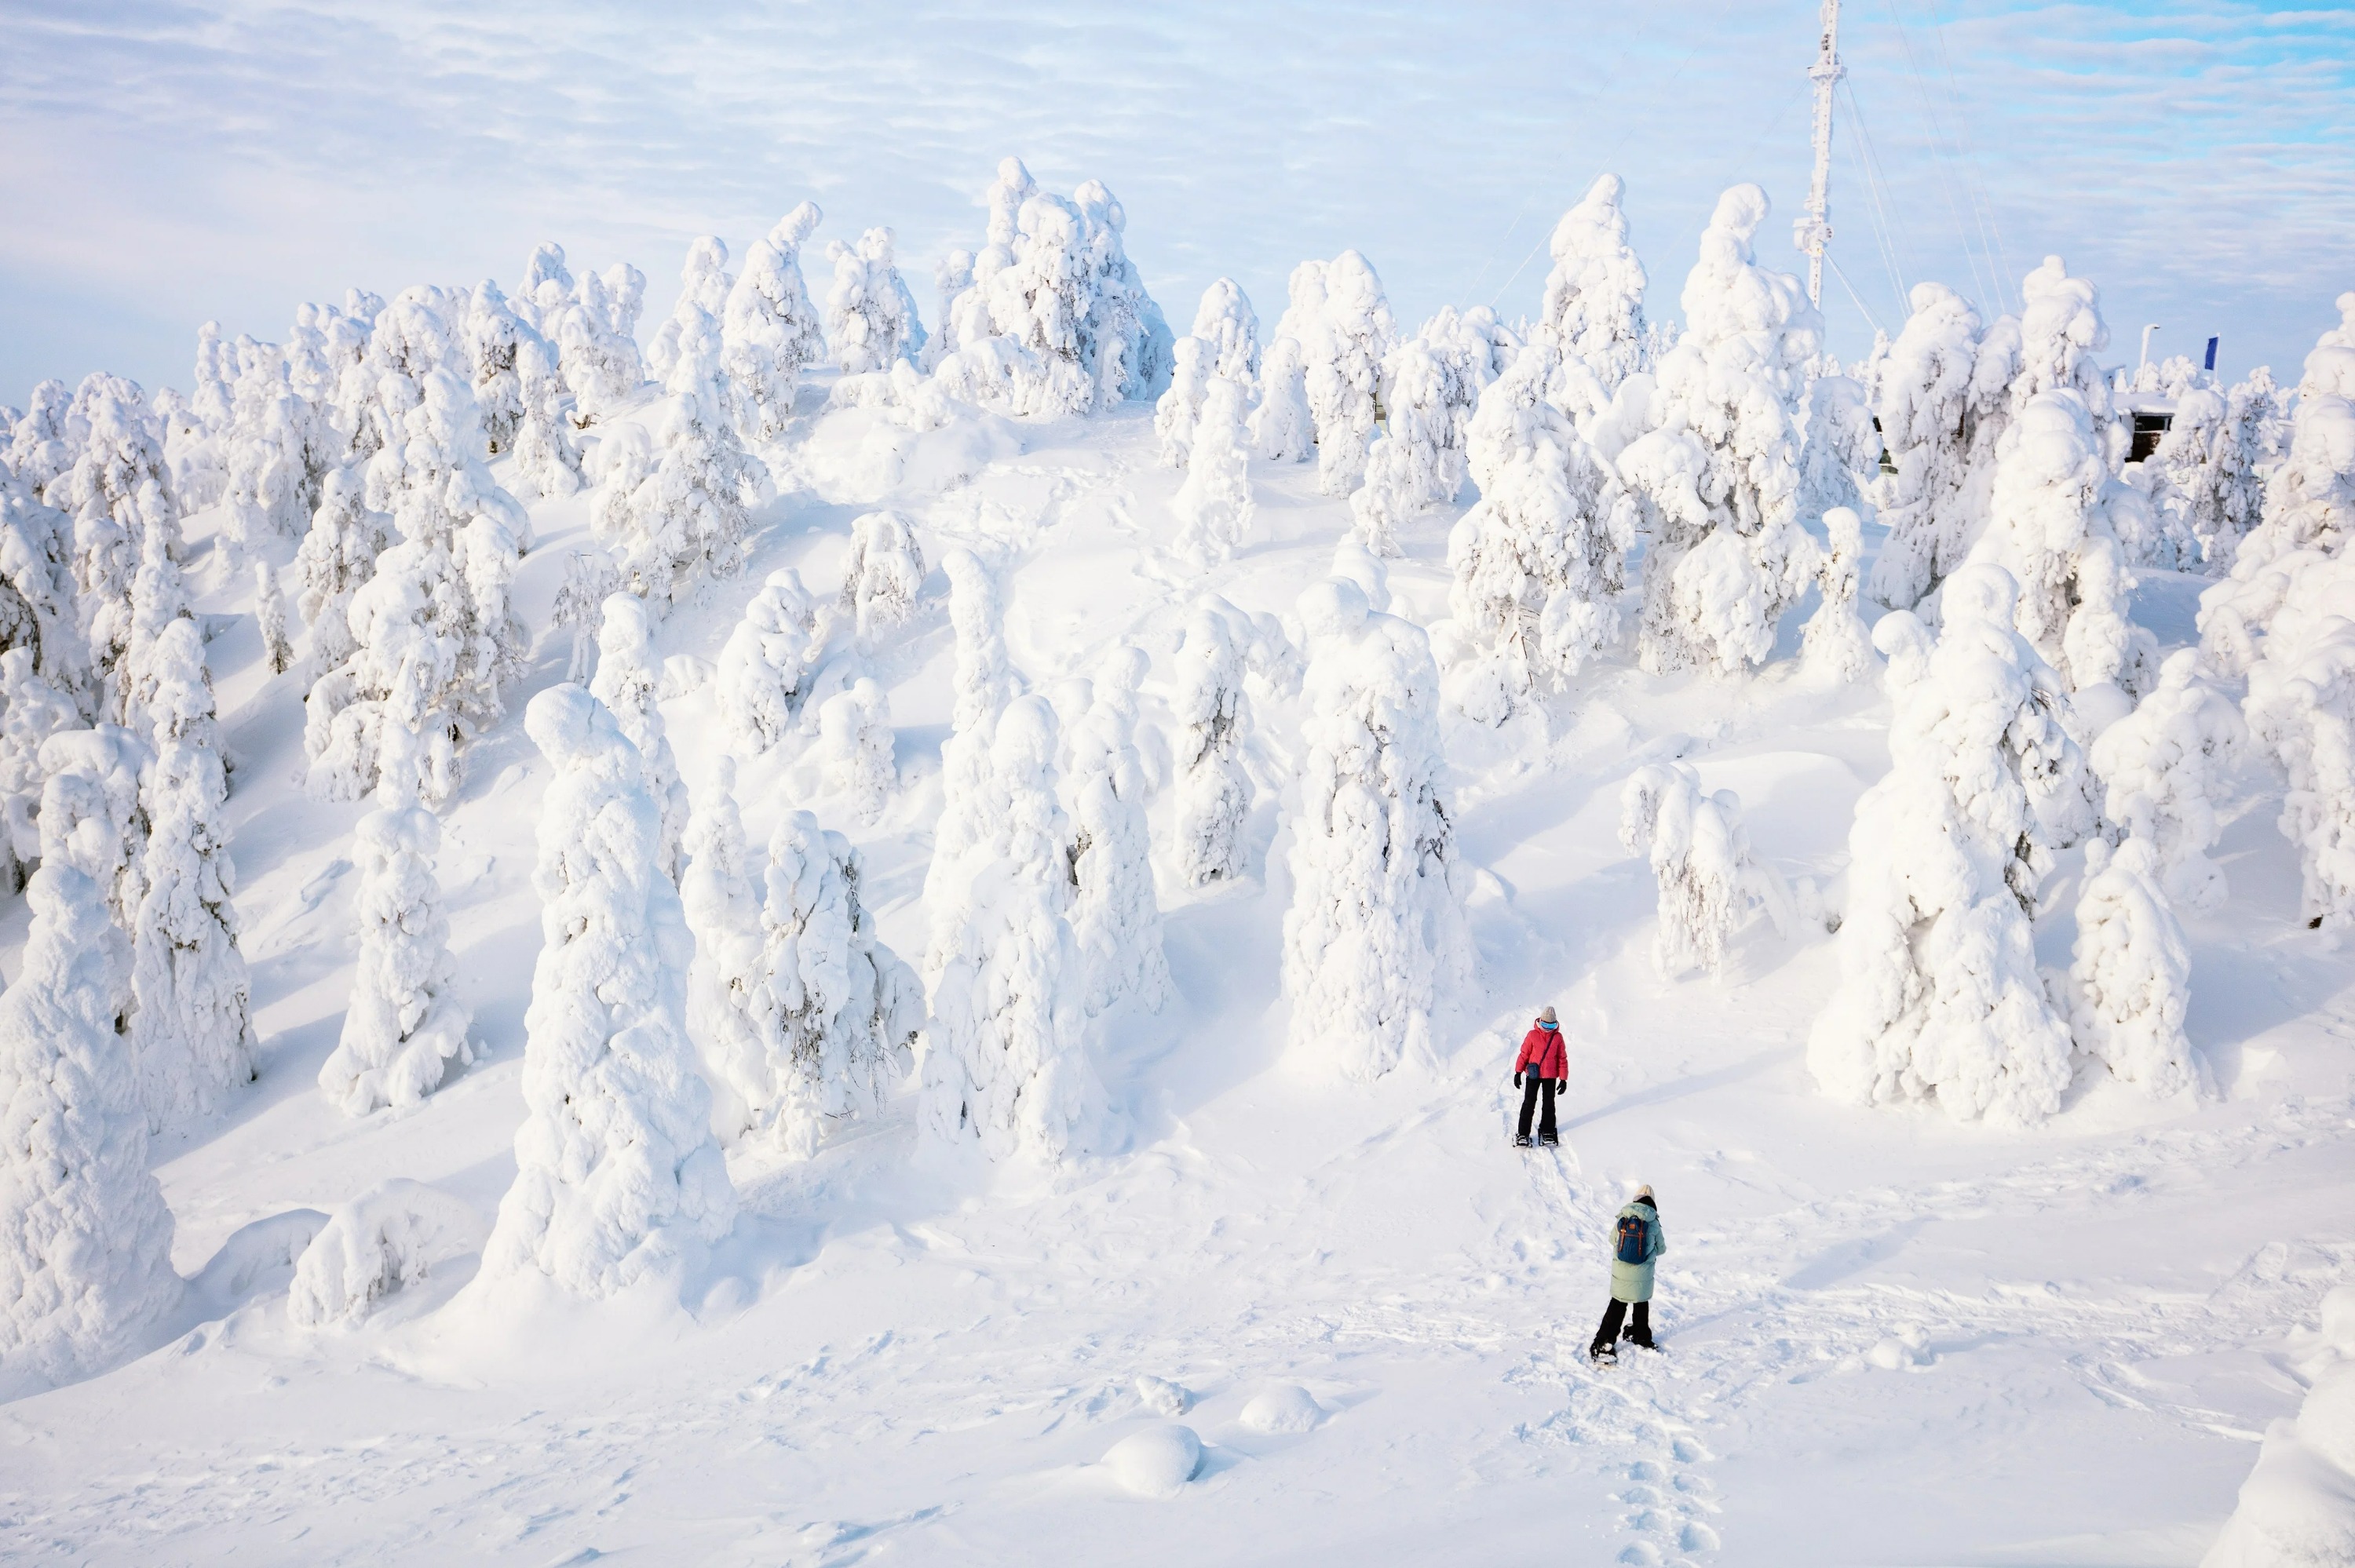
<svg viewBox="0 0 2355 1568"><path fill-rule="evenodd" d="M9 410L5 1554L2355 1561L2355 294L1842 372L1618 193L1535 323L1008 160L940 306Z"/></svg>

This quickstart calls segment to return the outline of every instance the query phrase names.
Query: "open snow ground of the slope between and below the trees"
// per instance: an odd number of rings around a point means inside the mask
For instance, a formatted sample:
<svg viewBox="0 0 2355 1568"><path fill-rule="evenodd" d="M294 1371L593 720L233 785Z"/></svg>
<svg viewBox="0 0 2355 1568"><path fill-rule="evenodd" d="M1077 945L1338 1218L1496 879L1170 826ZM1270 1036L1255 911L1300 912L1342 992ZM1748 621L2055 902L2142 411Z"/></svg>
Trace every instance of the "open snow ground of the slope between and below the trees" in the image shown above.
<svg viewBox="0 0 2355 1568"><path fill-rule="evenodd" d="M1255 532L1203 577L1170 553L1180 473L1154 464L1142 407L982 417L878 457L869 417L822 400L824 379L803 388L747 572L681 607L655 652L716 659L770 570L829 591L869 504L916 520L926 600L869 666L902 791L871 826L827 817L907 956L949 716L942 553L1013 567L1008 645L1031 690L1128 636L1154 655L1147 720L1166 723L1192 596L1288 610L1331 570L1347 504L1309 466L1255 459ZM532 626L586 506L535 509L516 579ZM1415 520L1392 563L1418 622L1446 612L1453 518ZM410 1111L351 1121L316 1074L351 977L363 808L301 793L299 678L268 673L247 596L203 551L191 577L221 614L261 1078L158 1144L174 1262L198 1278L174 1340L0 1406L14 1561L2188 1566L2266 1422L2298 1406L2291 1330L2355 1260L2355 965L2294 921L2266 775L2216 848L2230 902L2185 916L2190 1036L2216 1083L2197 1104L2079 1083L2032 1132L1839 1107L1804 1069L1835 982L1820 930L1752 921L1719 979L1658 979L1651 871L1618 843L1644 763L1738 791L1754 852L1837 904L1889 711L1870 685L1795 678L1809 603L1754 678L1653 678L1620 655L1502 732L1451 720L1481 982L1437 1062L1361 1088L1281 1052L1300 713L1255 690L1253 873L1201 895L1163 876L1178 1001L1121 1019L1100 1059L1126 1151L1055 1172L916 1158L902 1092L808 1163L739 1156L742 1217L683 1307L485 1321L459 1297L478 1241L455 1224L455 1255L426 1255L372 1316L299 1328L290 1257L320 1210L405 1177L487 1224L513 1177L549 784L520 713L570 647L542 636L447 812L440 883L480 1059ZM2145 572L2136 617L2181 645L2197 589ZM709 683L664 718L681 772L709 779ZM742 758L751 843L803 786L791 746ZM1170 810L1163 791L1156 831ZM2054 909L2077 876L2070 855ZM0 937L14 972L21 902ZM2039 928L2039 958L2065 965L2068 937L2065 913ZM1564 1147L1514 1151L1512 1048L1547 1001L1571 1038ZM1604 1229L1637 1182L1670 1236L1667 1349L1597 1373ZM1267 1391L1283 1420L1255 1403ZM1104 1455L1170 1420L1201 1464L1152 1500L1133 1479L1175 1439Z"/></svg>

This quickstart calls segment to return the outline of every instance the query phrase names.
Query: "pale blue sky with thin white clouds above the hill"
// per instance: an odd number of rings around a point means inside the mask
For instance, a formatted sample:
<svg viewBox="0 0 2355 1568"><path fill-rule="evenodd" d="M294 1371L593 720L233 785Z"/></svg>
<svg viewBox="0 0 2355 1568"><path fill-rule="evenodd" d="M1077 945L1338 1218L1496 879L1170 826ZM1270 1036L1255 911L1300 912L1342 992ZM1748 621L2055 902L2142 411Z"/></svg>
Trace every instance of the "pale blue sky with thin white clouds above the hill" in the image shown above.
<svg viewBox="0 0 2355 1568"><path fill-rule="evenodd" d="M1102 179L1173 318L1359 247L1392 304L1535 306L1543 240L1630 181L1653 290L1714 195L1776 202L1797 268L1813 0L0 0L0 400L40 377L188 381L198 323L283 337L346 285L513 283L532 245L636 261L815 198L817 242L890 224L933 259L996 160ZM2355 7L1849 0L1835 348L1936 278L2016 304L2094 278L2112 360L2223 334L2294 370L2355 290ZM812 271L822 268L812 247Z"/></svg>

